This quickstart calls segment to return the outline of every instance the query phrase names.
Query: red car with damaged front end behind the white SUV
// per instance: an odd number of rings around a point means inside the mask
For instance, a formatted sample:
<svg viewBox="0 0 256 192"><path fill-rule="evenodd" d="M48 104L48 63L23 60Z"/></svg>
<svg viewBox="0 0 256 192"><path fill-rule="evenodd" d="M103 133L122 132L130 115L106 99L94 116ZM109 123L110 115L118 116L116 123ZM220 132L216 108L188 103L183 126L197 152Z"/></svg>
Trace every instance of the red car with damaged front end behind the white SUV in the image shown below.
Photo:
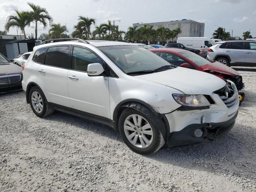
<svg viewBox="0 0 256 192"><path fill-rule="evenodd" d="M231 80L236 84L238 90L244 87L242 76L236 70L219 62L211 63L197 54L176 48L151 49L150 51L173 65L214 74L224 81ZM241 97L240 101L243 100L244 94Z"/></svg>

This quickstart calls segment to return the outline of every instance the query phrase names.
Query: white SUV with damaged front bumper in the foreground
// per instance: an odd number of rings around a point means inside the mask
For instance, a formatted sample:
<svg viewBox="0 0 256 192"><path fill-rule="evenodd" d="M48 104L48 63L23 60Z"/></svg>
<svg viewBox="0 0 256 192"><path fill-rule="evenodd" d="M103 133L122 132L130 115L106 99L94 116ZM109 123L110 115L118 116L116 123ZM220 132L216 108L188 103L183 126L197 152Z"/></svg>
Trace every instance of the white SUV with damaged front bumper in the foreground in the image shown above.
<svg viewBox="0 0 256 192"><path fill-rule="evenodd" d="M206 142L228 132L238 114L234 83L176 67L125 42L56 42L36 46L22 87L33 112L54 110L106 124L140 154Z"/></svg>

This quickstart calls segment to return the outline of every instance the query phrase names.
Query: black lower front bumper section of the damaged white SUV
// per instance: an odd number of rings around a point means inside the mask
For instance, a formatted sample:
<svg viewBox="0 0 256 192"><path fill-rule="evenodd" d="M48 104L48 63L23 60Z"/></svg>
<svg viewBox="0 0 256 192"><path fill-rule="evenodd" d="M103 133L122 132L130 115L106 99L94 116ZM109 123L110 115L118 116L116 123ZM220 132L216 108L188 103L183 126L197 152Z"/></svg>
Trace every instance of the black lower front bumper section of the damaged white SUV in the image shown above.
<svg viewBox="0 0 256 192"><path fill-rule="evenodd" d="M209 142L229 132L235 124L237 115L238 110L230 120L225 122L190 124L180 131L171 132L166 139L166 143L168 146L182 146L191 143ZM202 136L196 136L197 130L202 131Z"/></svg>

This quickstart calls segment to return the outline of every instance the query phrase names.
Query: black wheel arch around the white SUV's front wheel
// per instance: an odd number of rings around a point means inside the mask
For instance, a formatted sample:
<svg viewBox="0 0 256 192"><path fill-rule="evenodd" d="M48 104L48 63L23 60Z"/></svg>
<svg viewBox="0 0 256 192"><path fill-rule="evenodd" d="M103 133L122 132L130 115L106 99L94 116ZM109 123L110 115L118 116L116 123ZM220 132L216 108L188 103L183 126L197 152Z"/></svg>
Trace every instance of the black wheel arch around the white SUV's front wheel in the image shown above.
<svg viewBox="0 0 256 192"><path fill-rule="evenodd" d="M121 112L125 108L133 108L145 114L154 122L155 126L160 130L164 138L167 138L170 134L170 126L166 116L164 114L159 114L150 104L139 99L126 99L116 106L112 122L114 130L118 131L118 120Z"/></svg>

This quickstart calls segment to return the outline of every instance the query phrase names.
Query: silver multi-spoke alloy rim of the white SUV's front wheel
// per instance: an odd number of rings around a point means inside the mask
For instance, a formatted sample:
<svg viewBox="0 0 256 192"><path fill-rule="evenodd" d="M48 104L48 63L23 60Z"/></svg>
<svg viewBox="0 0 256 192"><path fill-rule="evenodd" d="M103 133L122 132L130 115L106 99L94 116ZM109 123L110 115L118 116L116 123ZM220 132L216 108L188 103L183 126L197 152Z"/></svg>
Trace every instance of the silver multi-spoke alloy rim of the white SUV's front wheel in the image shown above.
<svg viewBox="0 0 256 192"><path fill-rule="evenodd" d="M153 141L153 130L148 121L132 114L124 121L124 133L131 144L138 148L147 148Z"/></svg>

